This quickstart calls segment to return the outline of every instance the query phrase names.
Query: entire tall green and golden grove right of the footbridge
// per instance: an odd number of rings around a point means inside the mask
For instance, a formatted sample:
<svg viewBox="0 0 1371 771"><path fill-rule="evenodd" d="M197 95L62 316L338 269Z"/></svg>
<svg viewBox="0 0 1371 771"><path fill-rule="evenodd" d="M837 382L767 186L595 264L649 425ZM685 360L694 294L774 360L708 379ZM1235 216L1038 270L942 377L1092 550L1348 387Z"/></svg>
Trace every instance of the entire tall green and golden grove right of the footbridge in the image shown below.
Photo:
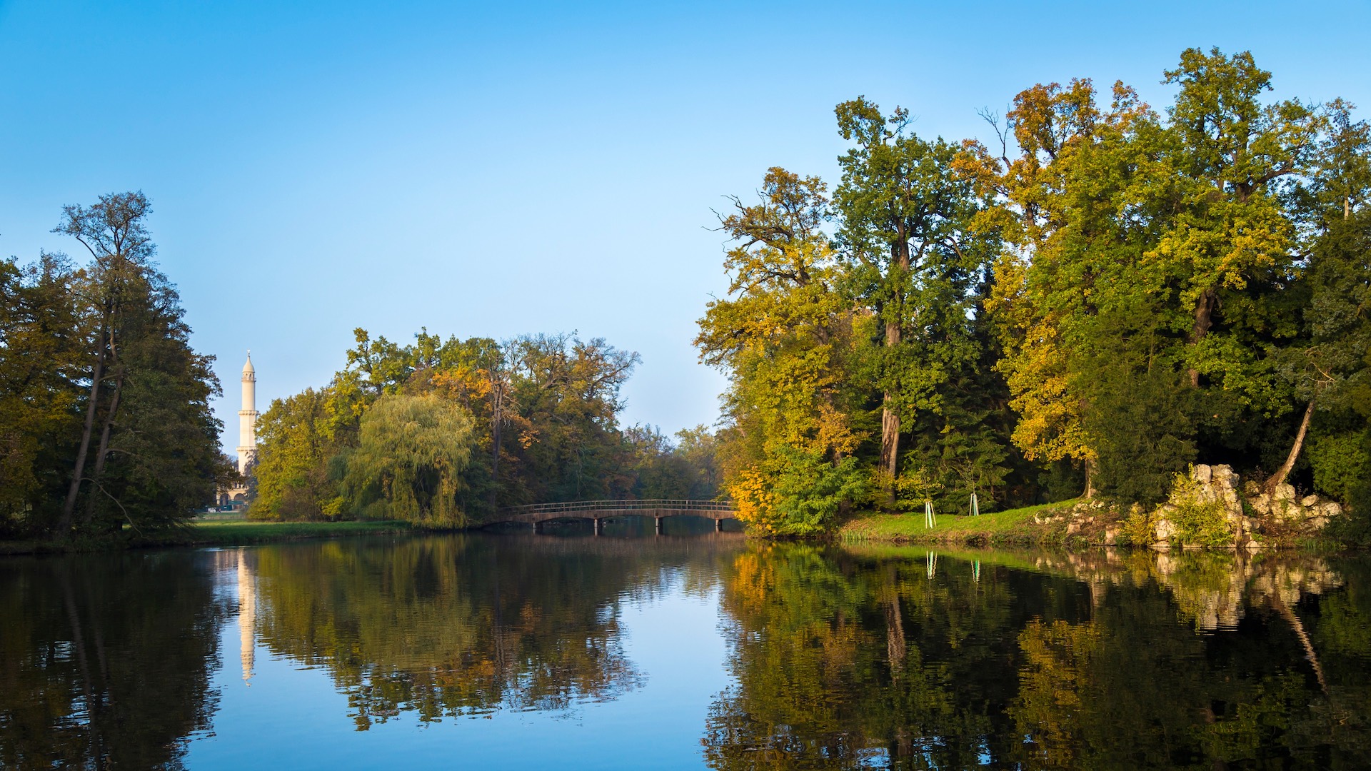
<svg viewBox="0 0 1371 771"><path fill-rule="evenodd" d="M995 140L836 107L842 178L766 173L720 215L718 453L753 525L845 508L1161 499L1191 462L1371 514L1371 132L1189 49L1157 111L1035 85Z"/></svg>

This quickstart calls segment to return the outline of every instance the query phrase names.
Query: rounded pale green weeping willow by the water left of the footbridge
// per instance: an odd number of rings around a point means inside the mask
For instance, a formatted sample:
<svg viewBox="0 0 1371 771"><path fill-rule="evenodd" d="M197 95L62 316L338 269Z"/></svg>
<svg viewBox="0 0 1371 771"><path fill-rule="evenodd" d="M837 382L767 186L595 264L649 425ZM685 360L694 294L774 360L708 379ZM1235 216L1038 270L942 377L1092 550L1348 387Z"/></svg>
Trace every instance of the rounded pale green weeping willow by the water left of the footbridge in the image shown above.
<svg viewBox="0 0 1371 771"><path fill-rule="evenodd" d="M473 420L432 394L391 394L362 416L358 447L340 458L354 513L426 527L463 527L461 473L476 446Z"/></svg>

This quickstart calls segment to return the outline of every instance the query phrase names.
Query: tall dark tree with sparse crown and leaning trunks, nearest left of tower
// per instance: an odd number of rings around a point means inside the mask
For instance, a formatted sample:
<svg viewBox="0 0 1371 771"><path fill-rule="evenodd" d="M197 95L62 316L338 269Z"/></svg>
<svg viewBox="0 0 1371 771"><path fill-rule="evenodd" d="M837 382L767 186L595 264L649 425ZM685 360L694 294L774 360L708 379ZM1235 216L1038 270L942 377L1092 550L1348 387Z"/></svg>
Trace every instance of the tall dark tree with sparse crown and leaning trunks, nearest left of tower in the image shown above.
<svg viewBox="0 0 1371 771"><path fill-rule="evenodd" d="M73 283L85 362L67 377L82 383L85 414L59 538L184 521L228 473L208 405L213 358L191 348L175 287L152 263L149 211L141 192L111 193L64 207L53 230L92 257Z"/></svg>

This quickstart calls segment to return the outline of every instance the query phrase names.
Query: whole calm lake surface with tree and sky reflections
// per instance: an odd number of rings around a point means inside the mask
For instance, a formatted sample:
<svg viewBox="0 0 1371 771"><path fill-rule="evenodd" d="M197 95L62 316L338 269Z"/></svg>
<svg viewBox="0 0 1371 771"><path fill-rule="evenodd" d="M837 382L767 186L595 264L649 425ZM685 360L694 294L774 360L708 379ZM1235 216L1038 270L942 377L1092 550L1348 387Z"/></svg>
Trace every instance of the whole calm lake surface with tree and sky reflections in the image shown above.
<svg viewBox="0 0 1371 771"><path fill-rule="evenodd" d="M0 766L1371 763L1364 557L712 530L0 560Z"/></svg>

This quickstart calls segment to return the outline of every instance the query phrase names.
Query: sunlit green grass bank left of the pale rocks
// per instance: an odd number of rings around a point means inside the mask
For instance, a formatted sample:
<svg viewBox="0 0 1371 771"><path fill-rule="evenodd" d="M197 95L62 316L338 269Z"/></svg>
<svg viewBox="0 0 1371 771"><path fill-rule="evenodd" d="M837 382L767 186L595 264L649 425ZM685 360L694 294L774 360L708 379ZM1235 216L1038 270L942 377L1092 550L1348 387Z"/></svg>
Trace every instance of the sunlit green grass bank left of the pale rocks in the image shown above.
<svg viewBox="0 0 1371 771"><path fill-rule="evenodd" d="M1073 503L1075 499L1060 501L979 516L939 514L932 528L924 527L921 513L858 514L843 524L838 535L843 541L891 543L1039 543L1052 539L1053 528L1036 524L1034 517Z"/></svg>

